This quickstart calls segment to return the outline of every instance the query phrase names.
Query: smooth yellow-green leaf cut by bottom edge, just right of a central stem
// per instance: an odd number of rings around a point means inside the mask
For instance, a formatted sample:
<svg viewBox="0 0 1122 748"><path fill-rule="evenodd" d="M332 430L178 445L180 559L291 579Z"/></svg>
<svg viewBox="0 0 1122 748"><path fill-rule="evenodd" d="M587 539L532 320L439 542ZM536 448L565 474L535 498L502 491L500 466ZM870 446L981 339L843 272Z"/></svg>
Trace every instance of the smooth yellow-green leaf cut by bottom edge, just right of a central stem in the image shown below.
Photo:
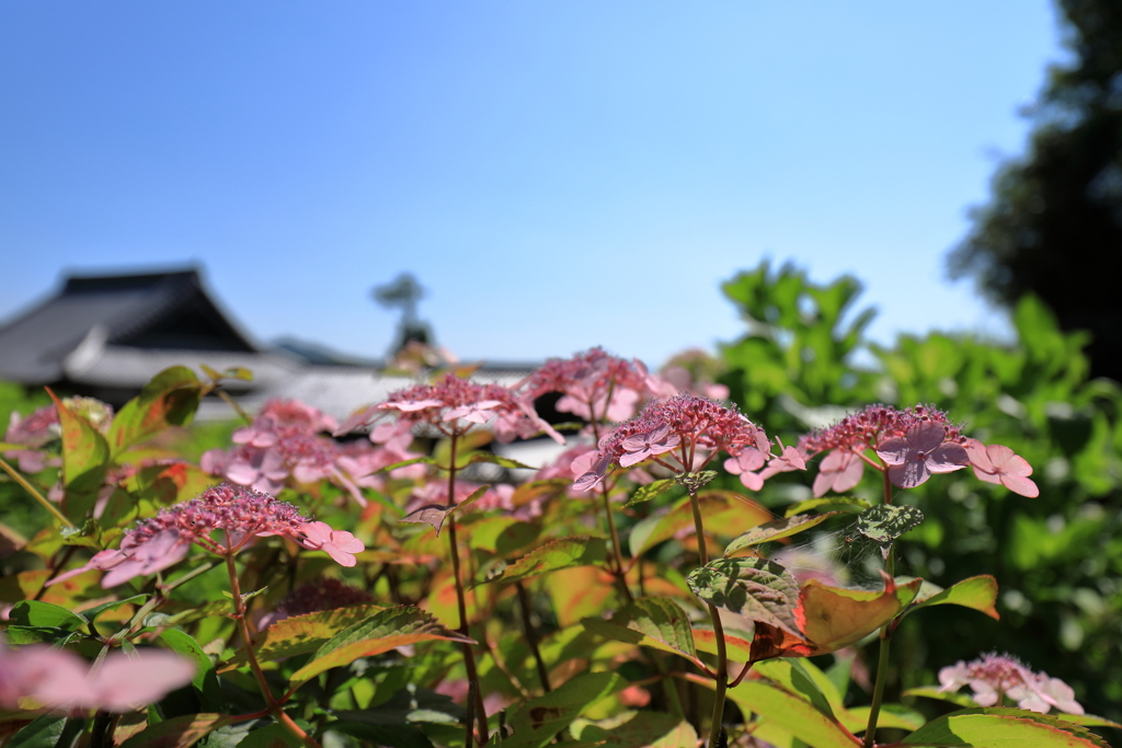
<svg viewBox="0 0 1122 748"><path fill-rule="evenodd" d="M753 735L764 740L771 740L778 728L780 736L793 736L810 748L856 748L861 745L836 720L779 686L762 681L745 681L729 689L728 698L745 714L755 713L763 718Z"/></svg>

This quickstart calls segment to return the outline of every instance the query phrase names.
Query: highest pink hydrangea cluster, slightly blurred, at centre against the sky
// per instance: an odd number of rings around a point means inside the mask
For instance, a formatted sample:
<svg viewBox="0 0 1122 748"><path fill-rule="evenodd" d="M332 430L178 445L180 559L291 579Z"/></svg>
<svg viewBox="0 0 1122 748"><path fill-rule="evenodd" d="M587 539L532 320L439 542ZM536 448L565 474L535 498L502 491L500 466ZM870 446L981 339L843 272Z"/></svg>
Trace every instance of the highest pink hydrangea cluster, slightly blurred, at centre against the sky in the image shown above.
<svg viewBox="0 0 1122 748"><path fill-rule="evenodd" d="M644 397L670 397L678 391L652 377L642 361L620 359L601 348L546 361L519 389L531 400L562 393L557 409L590 422L624 421L635 414Z"/></svg>

